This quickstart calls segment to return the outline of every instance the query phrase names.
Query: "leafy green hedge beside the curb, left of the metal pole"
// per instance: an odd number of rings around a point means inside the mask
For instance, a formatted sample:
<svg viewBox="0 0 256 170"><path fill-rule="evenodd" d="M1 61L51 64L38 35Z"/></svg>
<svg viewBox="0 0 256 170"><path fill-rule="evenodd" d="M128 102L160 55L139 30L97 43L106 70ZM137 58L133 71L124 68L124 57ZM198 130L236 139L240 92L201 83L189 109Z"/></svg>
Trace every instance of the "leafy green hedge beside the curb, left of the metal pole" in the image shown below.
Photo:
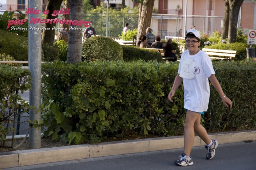
<svg viewBox="0 0 256 170"><path fill-rule="evenodd" d="M17 116L17 101L23 103L20 109L26 110L31 108L25 100L20 98L18 92L23 93L30 89L30 72L28 69L14 68L5 64L0 65L0 138L5 140L8 133L14 131L14 127L10 129L7 126L13 126L13 117ZM1 143L2 145L4 142Z"/></svg>

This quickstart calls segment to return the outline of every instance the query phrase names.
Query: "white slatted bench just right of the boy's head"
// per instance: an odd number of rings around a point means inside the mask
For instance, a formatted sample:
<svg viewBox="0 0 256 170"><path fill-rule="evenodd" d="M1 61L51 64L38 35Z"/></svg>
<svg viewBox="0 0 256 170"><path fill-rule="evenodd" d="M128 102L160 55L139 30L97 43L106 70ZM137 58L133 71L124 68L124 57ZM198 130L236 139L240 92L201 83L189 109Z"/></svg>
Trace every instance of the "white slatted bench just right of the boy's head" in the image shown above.
<svg viewBox="0 0 256 170"><path fill-rule="evenodd" d="M202 51L206 52L206 54L208 54L208 56L211 59L218 59L218 60L231 60L232 57L236 57L236 52L237 52L232 50L217 50L217 49L208 49L208 48L203 48Z"/></svg>

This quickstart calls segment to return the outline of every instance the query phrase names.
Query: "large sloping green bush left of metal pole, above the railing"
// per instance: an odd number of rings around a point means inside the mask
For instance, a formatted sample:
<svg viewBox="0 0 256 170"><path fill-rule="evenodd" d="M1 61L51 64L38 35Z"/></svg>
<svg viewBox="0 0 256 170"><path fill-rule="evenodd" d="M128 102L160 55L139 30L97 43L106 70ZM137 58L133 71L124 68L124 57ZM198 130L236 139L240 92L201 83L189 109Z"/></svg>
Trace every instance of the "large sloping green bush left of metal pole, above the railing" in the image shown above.
<svg viewBox="0 0 256 170"><path fill-rule="evenodd" d="M27 61L27 38L0 30L0 54L3 53L17 61Z"/></svg>

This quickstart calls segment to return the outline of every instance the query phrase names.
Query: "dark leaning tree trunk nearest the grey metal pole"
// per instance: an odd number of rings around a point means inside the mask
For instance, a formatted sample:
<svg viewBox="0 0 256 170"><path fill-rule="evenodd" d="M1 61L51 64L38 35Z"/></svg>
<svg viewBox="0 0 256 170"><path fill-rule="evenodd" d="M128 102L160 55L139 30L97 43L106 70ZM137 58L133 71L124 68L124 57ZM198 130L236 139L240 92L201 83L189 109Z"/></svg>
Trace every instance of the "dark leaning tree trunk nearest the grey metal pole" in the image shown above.
<svg viewBox="0 0 256 170"><path fill-rule="evenodd" d="M54 10L60 10L60 6L63 0L49 0L47 5L46 5L46 10L49 10L49 14L47 14L45 16L45 19L55 19L58 17L58 15L56 16L52 16L53 11ZM54 24L52 22L52 24L50 23L46 23L45 27L46 28L50 28L49 30L44 30L43 34L42 34L42 42L44 44L48 43L49 45L53 45L53 41L54 41L54 36L55 36L55 30L52 29L53 26L56 26L56 24Z"/></svg>

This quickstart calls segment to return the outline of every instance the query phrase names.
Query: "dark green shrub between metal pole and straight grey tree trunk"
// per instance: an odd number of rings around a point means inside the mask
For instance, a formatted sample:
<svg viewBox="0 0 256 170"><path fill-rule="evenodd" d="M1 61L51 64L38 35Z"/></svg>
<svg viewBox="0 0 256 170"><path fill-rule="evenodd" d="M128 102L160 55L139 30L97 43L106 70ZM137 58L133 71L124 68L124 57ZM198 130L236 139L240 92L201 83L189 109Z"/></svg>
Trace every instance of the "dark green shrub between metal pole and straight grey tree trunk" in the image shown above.
<svg viewBox="0 0 256 170"><path fill-rule="evenodd" d="M60 49L58 46L50 46L49 44L42 43L42 61L60 60Z"/></svg>

